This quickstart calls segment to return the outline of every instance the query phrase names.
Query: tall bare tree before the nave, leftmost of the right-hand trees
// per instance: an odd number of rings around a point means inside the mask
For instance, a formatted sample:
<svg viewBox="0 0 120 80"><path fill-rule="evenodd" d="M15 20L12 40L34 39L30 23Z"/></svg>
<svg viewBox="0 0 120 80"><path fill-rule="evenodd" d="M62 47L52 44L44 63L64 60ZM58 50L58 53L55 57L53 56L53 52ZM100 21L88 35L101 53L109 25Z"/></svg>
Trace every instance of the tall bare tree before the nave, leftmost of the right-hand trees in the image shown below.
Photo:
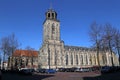
<svg viewBox="0 0 120 80"><path fill-rule="evenodd" d="M93 42L93 46L95 47L97 51L97 62L98 66L100 66L99 62L99 51L100 51L100 43L101 43L101 26L98 25L96 22L93 22L92 25L90 26L90 39Z"/></svg>

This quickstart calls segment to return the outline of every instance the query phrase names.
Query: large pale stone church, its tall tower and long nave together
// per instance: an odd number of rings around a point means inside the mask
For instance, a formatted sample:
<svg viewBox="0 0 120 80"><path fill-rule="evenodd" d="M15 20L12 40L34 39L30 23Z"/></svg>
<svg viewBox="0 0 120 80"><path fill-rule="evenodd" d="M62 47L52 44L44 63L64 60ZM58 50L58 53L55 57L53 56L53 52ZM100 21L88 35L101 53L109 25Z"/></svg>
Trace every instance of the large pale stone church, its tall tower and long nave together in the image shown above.
<svg viewBox="0 0 120 80"><path fill-rule="evenodd" d="M53 9L45 13L43 42L38 53L38 68L56 69L72 67L118 66L118 57L110 52L100 51L99 60L95 49L65 45L60 36L60 21ZM99 65L98 65L99 61Z"/></svg>

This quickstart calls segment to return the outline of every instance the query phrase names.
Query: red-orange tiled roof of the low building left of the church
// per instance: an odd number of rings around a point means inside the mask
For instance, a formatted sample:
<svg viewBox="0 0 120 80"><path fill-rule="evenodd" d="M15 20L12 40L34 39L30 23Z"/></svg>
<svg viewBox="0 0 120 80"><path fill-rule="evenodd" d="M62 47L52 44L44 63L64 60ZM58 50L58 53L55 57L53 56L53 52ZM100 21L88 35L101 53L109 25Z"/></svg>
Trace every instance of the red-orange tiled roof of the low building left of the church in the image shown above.
<svg viewBox="0 0 120 80"><path fill-rule="evenodd" d="M26 56L26 57L38 57L38 51L33 50L15 50L12 56Z"/></svg>

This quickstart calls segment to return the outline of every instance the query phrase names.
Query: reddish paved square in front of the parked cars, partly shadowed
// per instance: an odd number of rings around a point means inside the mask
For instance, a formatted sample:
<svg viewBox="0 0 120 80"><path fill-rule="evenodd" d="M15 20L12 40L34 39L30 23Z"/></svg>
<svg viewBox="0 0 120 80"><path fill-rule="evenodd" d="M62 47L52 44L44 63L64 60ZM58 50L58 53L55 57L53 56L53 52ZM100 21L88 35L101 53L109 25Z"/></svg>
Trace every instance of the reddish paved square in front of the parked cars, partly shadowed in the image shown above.
<svg viewBox="0 0 120 80"><path fill-rule="evenodd" d="M57 72L56 74L20 75L3 73L2 80L120 80L120 72L99 74L96 72Z"/></svg>

